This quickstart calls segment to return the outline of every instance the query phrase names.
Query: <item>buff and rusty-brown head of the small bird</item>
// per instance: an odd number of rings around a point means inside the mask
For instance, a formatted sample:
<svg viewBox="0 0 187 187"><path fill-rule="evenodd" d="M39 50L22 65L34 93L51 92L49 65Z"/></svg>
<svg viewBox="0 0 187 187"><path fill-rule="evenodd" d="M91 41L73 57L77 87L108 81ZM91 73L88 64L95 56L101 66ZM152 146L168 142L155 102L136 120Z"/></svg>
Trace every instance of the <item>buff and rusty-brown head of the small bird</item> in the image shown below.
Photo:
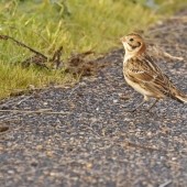
<svg viewBox="0 0 187 187"><path fill-rule="evenodd" d="M139 34L129 34L121 37L127 56L135 56L145 52L145 43Z"/></svg>

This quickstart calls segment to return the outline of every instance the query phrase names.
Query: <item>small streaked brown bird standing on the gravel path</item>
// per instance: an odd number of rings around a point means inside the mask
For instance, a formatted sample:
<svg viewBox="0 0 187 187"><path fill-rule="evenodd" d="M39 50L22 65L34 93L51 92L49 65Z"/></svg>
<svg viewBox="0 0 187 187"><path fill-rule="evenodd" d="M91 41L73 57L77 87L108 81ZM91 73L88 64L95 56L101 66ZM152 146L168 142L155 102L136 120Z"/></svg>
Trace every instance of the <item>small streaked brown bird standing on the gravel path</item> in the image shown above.
<svg viewBox="0 0 187 187"><path fill-rule="evenodd" d="M148 54L144 38L136 33L120 38L124 46L123 75L128 85L143 95L142 102L133 110L136 111L151 98L155 101L147 108L150 111L161 99L172 98L187 103L187 95L182 92L167 75L158 67Z"/></svg>

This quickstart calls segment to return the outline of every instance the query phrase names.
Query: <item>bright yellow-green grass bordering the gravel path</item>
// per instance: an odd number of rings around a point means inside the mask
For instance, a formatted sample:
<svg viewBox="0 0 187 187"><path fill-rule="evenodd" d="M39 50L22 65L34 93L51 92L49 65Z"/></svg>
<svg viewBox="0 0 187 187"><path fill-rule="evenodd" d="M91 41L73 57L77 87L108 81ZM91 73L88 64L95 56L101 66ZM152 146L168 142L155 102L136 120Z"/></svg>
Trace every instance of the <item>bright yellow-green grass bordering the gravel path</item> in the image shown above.
<svg viewBox="0 0 187 187"><path fill-rule="evenodd" d="M0 34L10 35L29 46L52 56L64 46L63 57L94 50L106 53L120 46L119 37L138 29L146 29L158 19L185 6L184 0L156 1L148 8L145 0L10 0L0 3ZM19 62L32 56L25 48L0 41L0 98L30 85L74 82L63 70L22 68Z"/></svg>

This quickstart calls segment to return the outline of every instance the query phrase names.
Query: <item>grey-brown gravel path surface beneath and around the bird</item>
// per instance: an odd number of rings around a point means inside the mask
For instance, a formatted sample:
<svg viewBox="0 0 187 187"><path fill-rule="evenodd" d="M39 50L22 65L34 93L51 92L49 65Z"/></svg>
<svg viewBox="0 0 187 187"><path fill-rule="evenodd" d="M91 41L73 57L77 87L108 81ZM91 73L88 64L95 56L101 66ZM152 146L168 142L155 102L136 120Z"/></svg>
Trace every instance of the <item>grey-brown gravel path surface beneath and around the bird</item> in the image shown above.
<svg viewBox="0 0 187 187"><path fill-rule="evenodd" d="M175 31L187 22L174 19L167 26ZM186 46L186 29L179 35L174 31L175 44ZM160 65L187 92L186 51L170 48L185 61ZM61 113L0 113L0 186L187 186L187 106L166 99L150 113L125 112L142 97L125 85L122 58L118 50L98 59L107 66L73 88L1 103L1 109Z"/></svg>

